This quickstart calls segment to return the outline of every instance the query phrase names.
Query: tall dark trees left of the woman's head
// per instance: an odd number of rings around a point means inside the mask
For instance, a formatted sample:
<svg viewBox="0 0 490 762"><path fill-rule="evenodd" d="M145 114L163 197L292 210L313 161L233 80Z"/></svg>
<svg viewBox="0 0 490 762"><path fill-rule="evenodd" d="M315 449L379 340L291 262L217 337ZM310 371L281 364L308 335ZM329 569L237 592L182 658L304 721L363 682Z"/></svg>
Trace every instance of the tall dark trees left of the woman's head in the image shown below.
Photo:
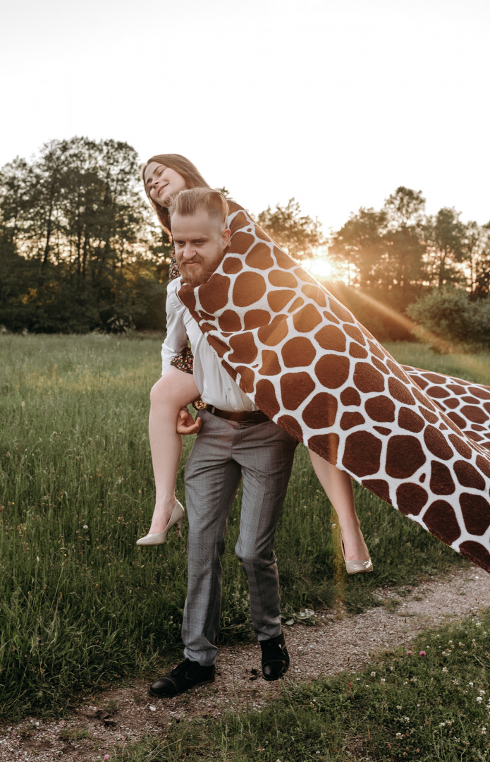
<svg viewBox="0 0 490 762"><path fill-rule="evenodd" d="M163 328L170 244L142 198L138 155L53 140L0 171L0 324Z"/></svg>

